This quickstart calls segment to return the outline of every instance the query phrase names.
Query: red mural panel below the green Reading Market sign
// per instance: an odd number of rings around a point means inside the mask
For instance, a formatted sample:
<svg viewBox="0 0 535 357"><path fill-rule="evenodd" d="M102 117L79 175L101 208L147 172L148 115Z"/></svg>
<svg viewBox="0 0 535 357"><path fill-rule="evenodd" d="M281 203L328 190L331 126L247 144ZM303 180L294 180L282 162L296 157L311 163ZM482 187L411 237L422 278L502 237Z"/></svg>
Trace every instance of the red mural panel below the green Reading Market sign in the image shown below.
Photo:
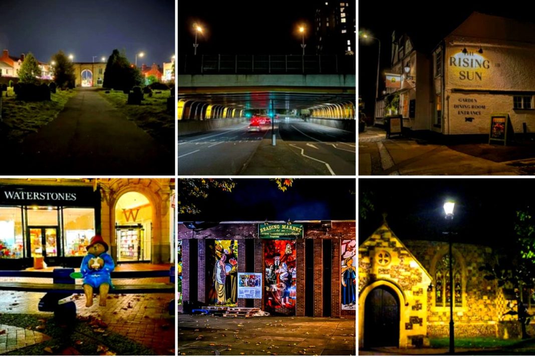
<svg viewBox="0 0 535 357"><path fill-rule="evenodd" d="M295 240L264 240L265 300L270 313L295 315Z"/></svg>

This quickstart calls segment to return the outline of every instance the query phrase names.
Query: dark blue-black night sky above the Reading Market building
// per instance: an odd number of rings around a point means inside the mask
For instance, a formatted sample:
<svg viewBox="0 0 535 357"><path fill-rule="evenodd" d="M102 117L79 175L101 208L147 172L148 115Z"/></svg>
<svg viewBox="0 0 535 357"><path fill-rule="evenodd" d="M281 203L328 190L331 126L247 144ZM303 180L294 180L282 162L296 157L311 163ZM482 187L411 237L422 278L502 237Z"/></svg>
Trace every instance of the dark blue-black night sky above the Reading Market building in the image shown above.
<svg viewBox="0 0 535 357"><path fill-rule="evenodd" d="M211 191L198 201L202 213L179 221L355 220L354 179L294 180L286 192L268 179L234 181L232 192Z"/></svg>

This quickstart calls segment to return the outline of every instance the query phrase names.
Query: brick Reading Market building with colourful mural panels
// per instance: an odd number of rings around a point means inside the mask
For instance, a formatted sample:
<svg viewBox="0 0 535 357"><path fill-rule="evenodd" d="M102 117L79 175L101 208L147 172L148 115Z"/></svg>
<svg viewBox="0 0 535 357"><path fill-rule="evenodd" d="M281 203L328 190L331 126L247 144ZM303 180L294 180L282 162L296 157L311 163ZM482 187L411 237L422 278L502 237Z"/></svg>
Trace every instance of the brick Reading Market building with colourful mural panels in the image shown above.
<svg viewBox="0 0 535 357"><path fill-rule="evenodd" d="M178 223L179 311L355 319L355 221Z"/></svg>

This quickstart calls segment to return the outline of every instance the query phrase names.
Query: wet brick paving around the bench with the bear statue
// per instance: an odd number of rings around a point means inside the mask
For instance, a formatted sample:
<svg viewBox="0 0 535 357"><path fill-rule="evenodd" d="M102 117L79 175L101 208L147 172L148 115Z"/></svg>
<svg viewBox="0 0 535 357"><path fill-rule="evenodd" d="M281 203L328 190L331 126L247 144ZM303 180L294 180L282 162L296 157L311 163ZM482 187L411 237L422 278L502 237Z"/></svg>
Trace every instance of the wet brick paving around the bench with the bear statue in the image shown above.
<svg viewBox="0 0 535 357"><path fill-rule="evenodd" d="M168 270L169 264L124 264L119 265L117 271L129 270ZM40 270L52 270L53 267ZM33 269L29 269L33 270ZM78 269L76 269L78 271ZM51 282L47 278L2 278L5 280L25 282ZM146 279L118 279L113 283L132 284L150 282L169 282L169 278L146 278ZM78 281L77 281L78 282ZM43 315L39 311L39 300L43 293L0 291L0 314L30 314ZM107 331L118 333L127 339L132 339L145 347L150 348L156 355L175 354L175 331L174 316L169 315L168 304L174 299L172 293L154 294L110 294L105 307L98 305L98 297L95 297L93 306L85 307L85 296L74 294L64 301L74 301L77 313L80 317L101 319L108 325ZM6 330L6 332L2 332ZM0 325L0 354L17 350L32 344L42 343L50 339L49 336L40 332ZM113 348L113 346L109 346Z"/></svg>

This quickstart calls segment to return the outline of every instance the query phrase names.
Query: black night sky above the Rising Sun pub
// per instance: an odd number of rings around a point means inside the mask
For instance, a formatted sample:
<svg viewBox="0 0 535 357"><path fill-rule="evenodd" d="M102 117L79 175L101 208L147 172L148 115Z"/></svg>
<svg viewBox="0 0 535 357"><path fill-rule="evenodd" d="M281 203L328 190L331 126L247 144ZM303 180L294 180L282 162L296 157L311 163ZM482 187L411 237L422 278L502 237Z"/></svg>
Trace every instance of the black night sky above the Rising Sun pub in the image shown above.
<svg viewBox="0 0 535 357"><path fill-rule="evenodd" d="M440 40L460 25L472 11L510 17L524 21L535 21L530 10L524 5L504 6L502 2L464 1L437 4L400 3L387 1L358 2L358 29L365 30L381 41L381 69L383 73L391 66L392 32L414 35L415 46L425 50L434 48ZM528 5L531 9L531 5ZM416 40L416 41L415 41ZM377 41L359 41L358 46L358 94L363 97L365 112L373 117L375 84L377 80ZM382 74L380 74L381 76ZM382 82L382 84L381 84ZM384 76L379 77L379 96L384 89Z"/></svg>

